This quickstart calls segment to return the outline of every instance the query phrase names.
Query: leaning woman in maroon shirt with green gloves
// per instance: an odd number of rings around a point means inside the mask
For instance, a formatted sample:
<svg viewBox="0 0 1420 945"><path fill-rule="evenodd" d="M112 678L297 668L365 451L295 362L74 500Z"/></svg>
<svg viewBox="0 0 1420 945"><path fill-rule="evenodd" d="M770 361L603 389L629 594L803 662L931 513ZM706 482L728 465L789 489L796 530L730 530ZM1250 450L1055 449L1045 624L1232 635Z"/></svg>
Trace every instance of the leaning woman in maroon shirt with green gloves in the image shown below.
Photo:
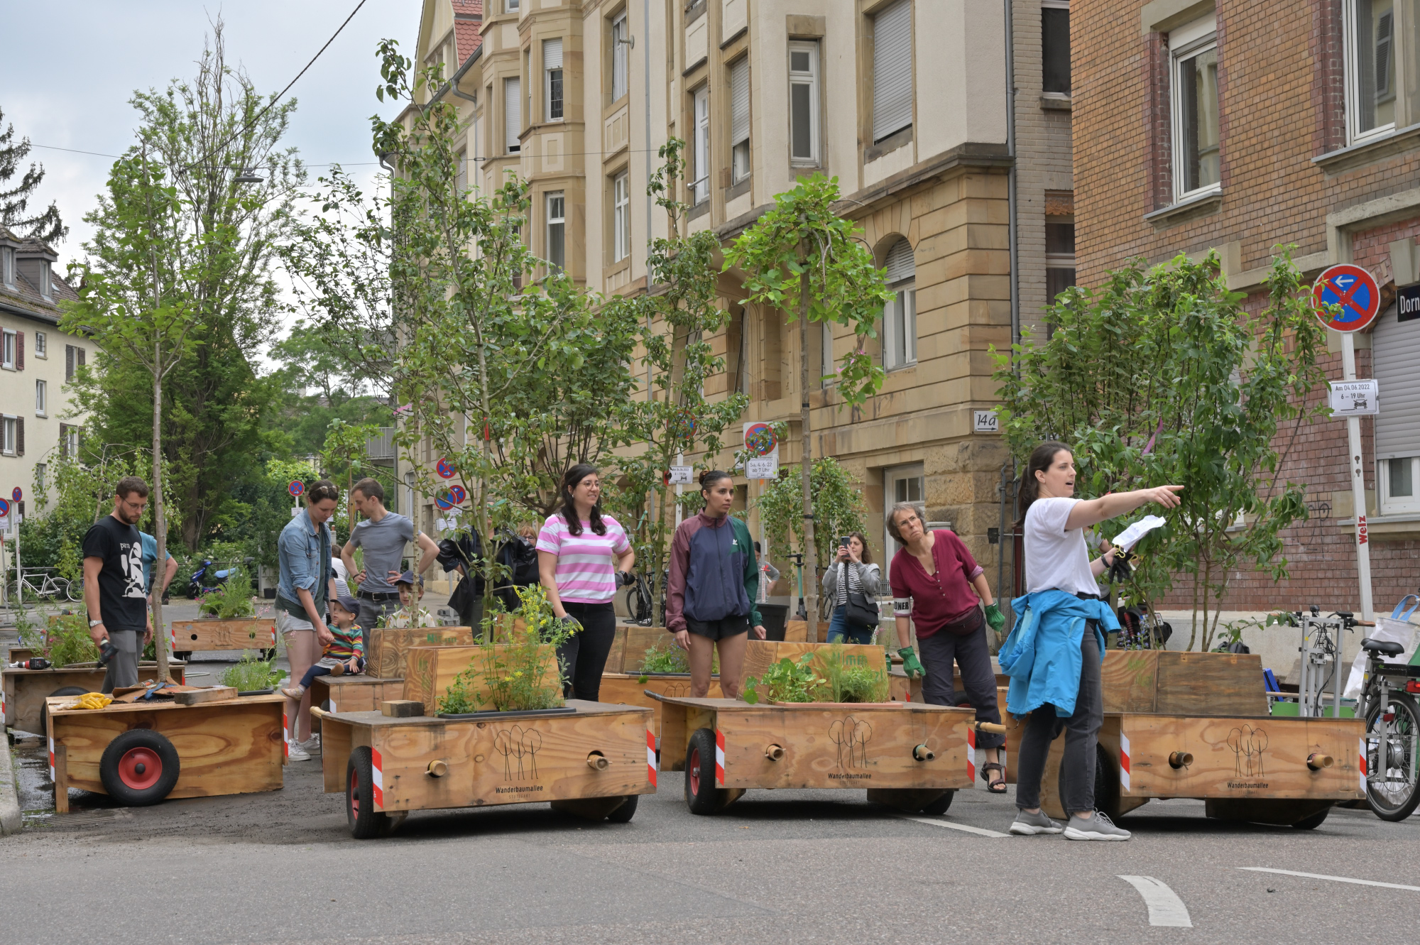
<svg viewBox="0 0 1420 945"><path fill-rule="evenodd" d="M993 630L1005 626L1005 617L991 599L991 586L961 539L941 529L929 532L922 514L912 502L899 502L888 516L888 531L902 548L893 555L889 572L897 641L910 641L907 619L917 630L922 661L910 646L902 654L909 675L926 674L922 695L933 705L951 705L951 663L961 668L961 687L977 711L978 722L1001 724L995 698L995 674L991 651L985 644L985 624ZM985 619L983 619L983 604ZM926 664L926 665L924 665ZM981 765L981 778L995 795L1005 793L1005 766L1001 746L1005 736L991 732L977 735L977 745L993 752L994 759Z"/></svg>

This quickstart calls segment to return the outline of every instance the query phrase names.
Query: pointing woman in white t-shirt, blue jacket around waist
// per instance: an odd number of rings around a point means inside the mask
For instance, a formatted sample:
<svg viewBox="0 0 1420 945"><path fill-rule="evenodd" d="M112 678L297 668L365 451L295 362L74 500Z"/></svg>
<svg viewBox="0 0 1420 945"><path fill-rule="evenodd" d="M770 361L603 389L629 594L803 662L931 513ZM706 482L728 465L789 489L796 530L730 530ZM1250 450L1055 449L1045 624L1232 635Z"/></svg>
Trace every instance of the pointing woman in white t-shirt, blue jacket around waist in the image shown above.
<svg viewBox="0 0 1420 945"><path fill-rule="evenodd" d="M1098 576L1113 552L1089 560L1085 529L1140 505L1179 505L1181 485L1076 499L1075 457L1064 443L1042 443L1021 477L1021 521L1025 543L1025 597L1011 606L1015 627L1001 646L1001 670L1011 677L1007 709L1031 718L1017 758L1011 833L1065 833L1069 840L1127 840L1109 817L1095 810L1095 742L1103 721L1099 664L1105 637L1119 621L1099 597ZM1027 616L1028 612L1028 616ZM1051 742L1065 731L1059 796L1068 824L1041 810L1041 776Z"/></svg>

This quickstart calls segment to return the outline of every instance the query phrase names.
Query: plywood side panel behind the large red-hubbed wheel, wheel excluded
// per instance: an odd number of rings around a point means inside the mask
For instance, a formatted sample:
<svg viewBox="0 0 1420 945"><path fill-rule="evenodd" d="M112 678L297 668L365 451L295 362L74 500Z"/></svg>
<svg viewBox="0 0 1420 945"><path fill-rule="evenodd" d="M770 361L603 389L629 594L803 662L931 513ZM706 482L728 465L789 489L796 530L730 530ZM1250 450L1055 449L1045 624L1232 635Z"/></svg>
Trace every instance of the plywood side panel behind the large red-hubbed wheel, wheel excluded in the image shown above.
<svg viewBox="0 0 1420 945"><path fill-rule="evenodd" d="M104 749L121 732L151 728L178 749L182 773L169 797L209 797L275 790L284 755L281 695L251 695L203 705L109 705L104 709L53 709L55 746L62 745L72 788L102 793Z"/></svg>

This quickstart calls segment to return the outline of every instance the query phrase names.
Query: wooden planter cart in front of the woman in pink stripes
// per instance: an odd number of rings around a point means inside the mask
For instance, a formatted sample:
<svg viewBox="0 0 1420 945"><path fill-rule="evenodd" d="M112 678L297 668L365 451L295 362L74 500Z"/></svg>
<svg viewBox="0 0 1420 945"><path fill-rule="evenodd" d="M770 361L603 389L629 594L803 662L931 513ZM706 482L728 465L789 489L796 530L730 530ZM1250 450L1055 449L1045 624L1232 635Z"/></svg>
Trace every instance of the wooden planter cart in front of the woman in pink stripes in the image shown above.
<svg viewBox="0 0 1420 945"><path fill-rule="evenodd" d="M552 647L541 650L555 673ZM312 709L325 790L345 793L355 837L381 836L410 810L544 800L625 823L636 797L655 790L650 709L571 700L565 709L435 715L454 677L483 656L476 646L410 647L402 701L379 712ZM471 688L480 682L481 671Z"/></svg>

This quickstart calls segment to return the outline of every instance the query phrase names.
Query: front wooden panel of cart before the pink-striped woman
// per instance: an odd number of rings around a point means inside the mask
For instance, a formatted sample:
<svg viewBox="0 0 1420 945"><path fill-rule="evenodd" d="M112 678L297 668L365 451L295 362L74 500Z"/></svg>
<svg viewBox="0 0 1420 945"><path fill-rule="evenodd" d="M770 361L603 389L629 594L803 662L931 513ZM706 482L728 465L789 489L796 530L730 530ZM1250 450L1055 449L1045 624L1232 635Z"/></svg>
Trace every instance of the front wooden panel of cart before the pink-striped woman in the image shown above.
<svg viewBox="0 0 1420 945"><path fill-rule="evenodd" d="M366 728L369 745L379 752L386 812L652 793L646 766L650 711L595 702L574 708L572 715L399 719L383 726L355 721L349 726ZM359 744L364 735L352 741ZM586 763L591 752L609 762L605 769ZM429 775L433 761L447 766L443 776ZM344 779L344 762L341 773Z"/></svg>

